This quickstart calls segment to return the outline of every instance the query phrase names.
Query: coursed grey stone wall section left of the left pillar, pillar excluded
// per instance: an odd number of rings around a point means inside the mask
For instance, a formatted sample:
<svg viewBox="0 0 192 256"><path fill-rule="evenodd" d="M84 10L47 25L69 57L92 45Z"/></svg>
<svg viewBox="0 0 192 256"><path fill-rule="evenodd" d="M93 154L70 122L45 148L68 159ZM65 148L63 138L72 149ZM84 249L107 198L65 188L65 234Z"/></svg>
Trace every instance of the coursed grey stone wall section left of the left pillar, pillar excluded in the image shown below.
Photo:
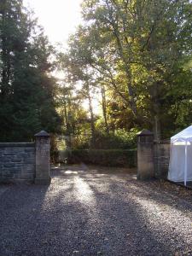
<svg viewBox="0 0 192 256"><path fill-rule="evenodd" d="M29 182L35 177L34 143L0 143L0 182Z"/></svg>

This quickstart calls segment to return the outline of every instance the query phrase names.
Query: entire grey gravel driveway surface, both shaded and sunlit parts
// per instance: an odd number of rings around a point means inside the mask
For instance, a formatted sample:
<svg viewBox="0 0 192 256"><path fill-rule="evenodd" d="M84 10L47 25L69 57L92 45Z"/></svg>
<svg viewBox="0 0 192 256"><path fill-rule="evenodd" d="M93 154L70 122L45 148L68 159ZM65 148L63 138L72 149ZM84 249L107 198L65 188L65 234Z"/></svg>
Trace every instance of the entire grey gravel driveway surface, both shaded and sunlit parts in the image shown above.
<svg viewBox="0 0 192 256"><path fill-rule="evenodd" d="M192 255L192 193L125 169L55 168L0 186L0 256Z"/></svg>

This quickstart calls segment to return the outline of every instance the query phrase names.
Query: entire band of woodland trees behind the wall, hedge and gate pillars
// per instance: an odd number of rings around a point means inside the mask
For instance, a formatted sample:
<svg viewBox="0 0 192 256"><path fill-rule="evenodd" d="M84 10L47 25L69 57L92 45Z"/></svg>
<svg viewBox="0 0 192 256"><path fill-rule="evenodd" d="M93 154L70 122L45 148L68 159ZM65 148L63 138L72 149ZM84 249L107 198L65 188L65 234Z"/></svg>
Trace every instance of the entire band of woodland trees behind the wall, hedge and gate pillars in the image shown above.
<svg viewBox="0 0 192 256"><path fill-rule="evenodd" d="M143 128L160 140L191 125L192 3L84 0L82 15L59 52L21 0L1 0L0 141L44 129L74 148L132 148Z"/></svg>

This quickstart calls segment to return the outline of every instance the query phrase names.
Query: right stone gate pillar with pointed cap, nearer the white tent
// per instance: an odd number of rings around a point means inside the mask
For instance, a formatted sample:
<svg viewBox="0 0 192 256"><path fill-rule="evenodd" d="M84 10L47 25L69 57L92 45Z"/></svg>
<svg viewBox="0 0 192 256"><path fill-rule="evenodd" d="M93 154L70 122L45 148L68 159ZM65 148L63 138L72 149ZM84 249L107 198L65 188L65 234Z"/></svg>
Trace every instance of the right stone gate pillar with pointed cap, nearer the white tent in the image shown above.
<svg viewBox="0 0 192 256"><path fill-rule="evenodd" d="M137 134L137 179L154 177L154 134L143 130Z"/></svg>

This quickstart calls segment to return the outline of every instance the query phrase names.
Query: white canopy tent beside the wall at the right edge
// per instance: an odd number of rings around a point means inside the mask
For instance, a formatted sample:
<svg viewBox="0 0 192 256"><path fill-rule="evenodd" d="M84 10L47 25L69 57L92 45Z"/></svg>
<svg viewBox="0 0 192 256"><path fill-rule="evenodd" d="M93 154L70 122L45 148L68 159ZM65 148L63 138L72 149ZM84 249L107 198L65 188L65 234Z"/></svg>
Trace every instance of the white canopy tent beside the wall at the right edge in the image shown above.
<svg viewBox="0 0 192 256"><path fill-rule="evenodd" d="M185 186L192 181L192 125L171 137L168 179Z"/></svg>

